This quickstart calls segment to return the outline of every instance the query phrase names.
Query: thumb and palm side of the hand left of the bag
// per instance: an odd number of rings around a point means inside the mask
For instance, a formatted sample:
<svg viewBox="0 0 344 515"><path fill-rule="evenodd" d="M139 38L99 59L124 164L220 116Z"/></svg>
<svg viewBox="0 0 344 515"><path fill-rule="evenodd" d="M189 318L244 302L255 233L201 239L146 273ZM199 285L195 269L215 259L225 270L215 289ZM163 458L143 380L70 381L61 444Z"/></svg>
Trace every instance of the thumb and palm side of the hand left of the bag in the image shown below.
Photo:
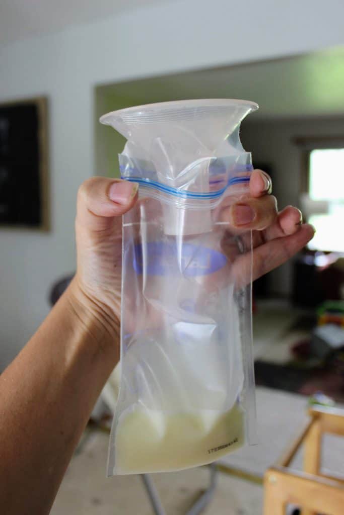
<svg viewBox="0 0 344 515"><path fill-rule="evenodd" d="M137 191L137 183L92 177L77 196L77 270L70 291L112 342L120 332L122 215L135 204Z"/></svg>

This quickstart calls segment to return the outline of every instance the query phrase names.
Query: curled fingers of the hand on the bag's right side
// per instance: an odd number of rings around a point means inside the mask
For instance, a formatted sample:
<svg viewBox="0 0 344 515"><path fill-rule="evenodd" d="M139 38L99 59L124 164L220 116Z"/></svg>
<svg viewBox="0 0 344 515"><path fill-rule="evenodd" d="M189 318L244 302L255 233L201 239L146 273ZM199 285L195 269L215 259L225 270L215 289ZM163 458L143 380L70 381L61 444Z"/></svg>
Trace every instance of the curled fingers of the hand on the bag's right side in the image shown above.
<svg viewBox="0 0 344 515"><path fill-rule="evenodd" d="M227 254L232 253L233 228L239 234L249 229L253 231L253 281L288 261L315 233L312 225L302 224L299 209L288 205L282 211L277 211L277 200L271 191L269 175L262 170L254 170L250 178L250 196L222 212L222 219L231 225L227 242L223 242ZM234 253L237 254L237 249ZM236 258L232 273L236 284L243 286L251 280L251 254L243 253Z"/></svg>

